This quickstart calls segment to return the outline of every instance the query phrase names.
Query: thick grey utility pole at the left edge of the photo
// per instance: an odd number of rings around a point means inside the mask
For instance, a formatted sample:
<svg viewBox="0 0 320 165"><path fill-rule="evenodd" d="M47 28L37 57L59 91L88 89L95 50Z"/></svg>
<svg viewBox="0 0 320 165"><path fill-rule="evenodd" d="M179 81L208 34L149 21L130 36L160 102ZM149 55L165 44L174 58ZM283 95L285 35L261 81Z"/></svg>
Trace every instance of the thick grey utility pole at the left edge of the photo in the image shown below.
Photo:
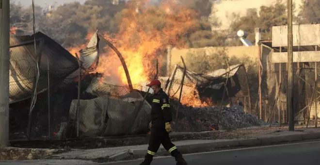
<svg viewBox="0 0 320 165"><path fill-rule="evenodd" d="M9 144L9 0L0 0L0 148Z"/></svg>

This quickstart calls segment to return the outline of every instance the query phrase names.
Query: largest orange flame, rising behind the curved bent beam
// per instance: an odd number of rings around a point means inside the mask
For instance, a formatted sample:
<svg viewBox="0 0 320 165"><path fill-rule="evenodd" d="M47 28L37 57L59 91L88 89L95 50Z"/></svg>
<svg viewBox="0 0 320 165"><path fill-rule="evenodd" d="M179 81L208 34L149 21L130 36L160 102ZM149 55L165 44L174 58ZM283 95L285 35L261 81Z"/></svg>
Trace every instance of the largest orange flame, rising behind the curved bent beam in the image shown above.
<svg viewBox="0 0 320 165"><path fill-rule="evenodd" d="M127 4L121 13L119 32L106 37L112 38L112 44L121 52L132 84L139 84L153 77L155 59L159 61L160 70L161 55L168 45L185 47L180 38L195 26L195 13L171 1L160 6L148 5L147 0L131 0ZM108 53L100 57L96 71L112 76L113 81L117 79L118 85L128 84L119 58L111 49L107 50Z"/></svg>

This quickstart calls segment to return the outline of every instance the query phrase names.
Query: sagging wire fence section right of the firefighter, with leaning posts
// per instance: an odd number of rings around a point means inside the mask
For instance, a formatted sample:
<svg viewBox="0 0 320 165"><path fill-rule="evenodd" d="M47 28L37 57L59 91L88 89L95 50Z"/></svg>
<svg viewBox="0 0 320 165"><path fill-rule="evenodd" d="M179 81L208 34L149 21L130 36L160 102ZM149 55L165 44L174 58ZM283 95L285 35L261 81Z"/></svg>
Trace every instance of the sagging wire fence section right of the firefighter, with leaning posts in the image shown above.
<svg viewBox="0 0 320 165"><path fill-rule="evenodd" d="M244 65L219 69L212 75L186 71L182 82L184 68L177 66L164 89L171 98L179 99L182 87L181 103L203 107L241 104L245 112L254 113L251 103L250 86Z"/></svg>

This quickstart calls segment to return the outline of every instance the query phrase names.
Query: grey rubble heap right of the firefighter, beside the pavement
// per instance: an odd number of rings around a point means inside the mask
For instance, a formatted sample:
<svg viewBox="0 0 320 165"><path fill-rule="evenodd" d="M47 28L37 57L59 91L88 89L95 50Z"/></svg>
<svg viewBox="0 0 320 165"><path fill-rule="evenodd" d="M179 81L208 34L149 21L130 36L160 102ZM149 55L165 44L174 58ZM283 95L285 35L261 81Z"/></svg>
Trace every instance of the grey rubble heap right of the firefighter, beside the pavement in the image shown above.
<svg viewBox="0 0 320 165"><path fill-rule="evenodd" d="M177 101L171 101L174 118ZM222 107L218 125L219 107L187 107L179 105L178 119L175 123L176 132L203 132L212 130L228 130L261 126L265 123L256 116L244 113L243 107Z"/></svg>

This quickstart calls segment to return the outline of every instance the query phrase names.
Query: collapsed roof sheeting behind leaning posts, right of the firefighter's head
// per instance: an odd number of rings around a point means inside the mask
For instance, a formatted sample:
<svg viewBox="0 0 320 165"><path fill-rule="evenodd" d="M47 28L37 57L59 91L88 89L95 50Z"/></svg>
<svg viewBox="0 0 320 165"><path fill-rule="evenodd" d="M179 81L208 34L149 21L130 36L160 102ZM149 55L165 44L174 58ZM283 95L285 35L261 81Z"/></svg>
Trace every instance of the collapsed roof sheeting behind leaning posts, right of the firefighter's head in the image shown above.
<svg viewBox="0 0 320 165"><path fill-rule="evenodd" d="M170 78L162 86L168 95L176 99L179 98L183 72L184 68L176 65ZM249 101L250 92L245 76L246 71L242 64L229 66L227 69L218 69L207 74L186 70L182 96L193 94L195 98L210 98L212 101L220 101L224 92L224 83L228 78L227 95L224 99L247 97L247 100L244 101Z"/></svg>

